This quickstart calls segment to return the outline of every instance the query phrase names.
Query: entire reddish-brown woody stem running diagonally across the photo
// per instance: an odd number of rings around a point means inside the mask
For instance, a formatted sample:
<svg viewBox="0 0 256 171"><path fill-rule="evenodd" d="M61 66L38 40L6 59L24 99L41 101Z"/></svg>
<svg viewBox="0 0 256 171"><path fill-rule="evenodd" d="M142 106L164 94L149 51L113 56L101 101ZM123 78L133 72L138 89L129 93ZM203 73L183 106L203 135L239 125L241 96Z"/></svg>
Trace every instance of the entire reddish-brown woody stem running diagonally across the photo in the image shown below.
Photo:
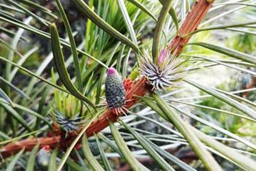
<svg viewBox="0 0 256 171"><path fill-rule="evenodd" d="M190 37L187 37L185 39L182 39L181 37L189 34L191 31L195 31L197 26L200 24L200 22L203 20L206 13L208 12L208 9L211 8L212 3L213 2L208 2L207 0L199 0L195 3L191 12L189 12L189 14L187 15L186 20L184 20L184 23L179 30L178 37L175 37L168 45L169 50L177 49L176 54L181 52L181 50L184 48L182 45L184 43L187 43L190 39ZM132 88L127 93L127 99L134 99L133 95L135 94L138 96L144 96L146 94L145 77L140 78L140 80L135 83L135 86L132 86ZM127 109L135 104L135 100L136 99L127 102ZM94 132L97 133L100 132L102 129L105 129L108 126L108 119L110 119L111 122L115 122L117 121L119 116L121 115L117 116L113 114L111 110L107 110L96 121L91 123L89 128L86 130L87 137L92 136ZM57 135L55 137L40 137L37 139L34 138L20 140L19 142L10 142L8 145L1 148L1 155L4 158L7 158L12 154L18 153L18 151L20 151L22 148L25 148L26 151L31 151L38 143L40 144L40 148L44 147L45 145L49 145L50 148L55 148L57 145L59 145L60 148L66 148L73 142L74 139L75 136L69 137L69 139L64 139L63 137L61 137L61 135Z"/></svg>

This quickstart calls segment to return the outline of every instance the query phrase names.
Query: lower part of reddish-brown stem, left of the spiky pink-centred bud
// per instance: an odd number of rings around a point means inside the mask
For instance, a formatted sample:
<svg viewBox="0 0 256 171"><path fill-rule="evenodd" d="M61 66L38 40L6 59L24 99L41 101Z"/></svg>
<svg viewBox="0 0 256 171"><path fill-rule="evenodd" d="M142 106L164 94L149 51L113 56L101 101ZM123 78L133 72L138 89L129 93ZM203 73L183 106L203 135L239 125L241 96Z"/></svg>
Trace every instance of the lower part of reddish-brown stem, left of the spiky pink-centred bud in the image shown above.
<svg viewBox="0 0 256 171"><path fill-rule="evenodd" d="M144 96L146 94L145 88L146 79L145 77L140 78L137 83L127 92L127 99L130 99L127 102L127 109L132 107L135 104L136 99L133 95ZM91 137L94 132L100 132L102 129L105 129L108 126L108 119L111 122L117 121L118 117L121 115L116 115L112 113L112 110L107 110L103 113L96 121L93 121L89 128L86 130L87 137ZM107 119L108 118L108 119ZM1 155L3 158L7 158L12 154L18 153L22 148L25 148L25 151L31 151L34 148L34 145L40 144L40 148L45 145L49 145L50 148L56 148L59 145L60 148L66 148L69 146L73 140L75 140L75 136L68 137L67 139L61 137L61 135L57 135L55 137L40 137L33 139L21 140L19 142L10 142L5 147L1 148Z"/></svg>

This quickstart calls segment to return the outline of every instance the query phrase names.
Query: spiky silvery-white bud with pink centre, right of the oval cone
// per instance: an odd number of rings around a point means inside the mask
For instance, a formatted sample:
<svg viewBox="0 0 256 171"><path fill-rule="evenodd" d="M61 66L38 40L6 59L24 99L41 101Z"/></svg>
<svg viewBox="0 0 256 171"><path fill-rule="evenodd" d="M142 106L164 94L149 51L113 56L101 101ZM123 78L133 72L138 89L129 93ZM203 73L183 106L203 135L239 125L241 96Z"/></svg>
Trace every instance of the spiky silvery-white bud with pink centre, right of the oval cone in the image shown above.
<svg viewBox="0 0 256 171"><path fill-rule="evenodd" d="M147 78L152 90L174 88L181 85L186 75L184 60L174 58L168 50L162 49L157 61L153 61L145 52L140 61L140 74Z"/></svg>

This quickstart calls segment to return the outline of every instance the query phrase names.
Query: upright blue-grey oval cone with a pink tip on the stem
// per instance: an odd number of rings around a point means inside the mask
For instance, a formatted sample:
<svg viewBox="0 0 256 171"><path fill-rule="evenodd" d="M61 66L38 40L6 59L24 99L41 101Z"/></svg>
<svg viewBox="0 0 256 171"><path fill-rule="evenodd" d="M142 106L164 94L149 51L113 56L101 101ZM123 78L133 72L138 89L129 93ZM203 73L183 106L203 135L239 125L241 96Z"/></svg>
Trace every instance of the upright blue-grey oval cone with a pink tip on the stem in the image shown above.
<svg viewBox="0 0 256 171"><path fill-rule="evenodd" d="M122 107L125 104L125 91L123 81L114 68L108 69L105 82L105 95L108 107Z"/></svg>

